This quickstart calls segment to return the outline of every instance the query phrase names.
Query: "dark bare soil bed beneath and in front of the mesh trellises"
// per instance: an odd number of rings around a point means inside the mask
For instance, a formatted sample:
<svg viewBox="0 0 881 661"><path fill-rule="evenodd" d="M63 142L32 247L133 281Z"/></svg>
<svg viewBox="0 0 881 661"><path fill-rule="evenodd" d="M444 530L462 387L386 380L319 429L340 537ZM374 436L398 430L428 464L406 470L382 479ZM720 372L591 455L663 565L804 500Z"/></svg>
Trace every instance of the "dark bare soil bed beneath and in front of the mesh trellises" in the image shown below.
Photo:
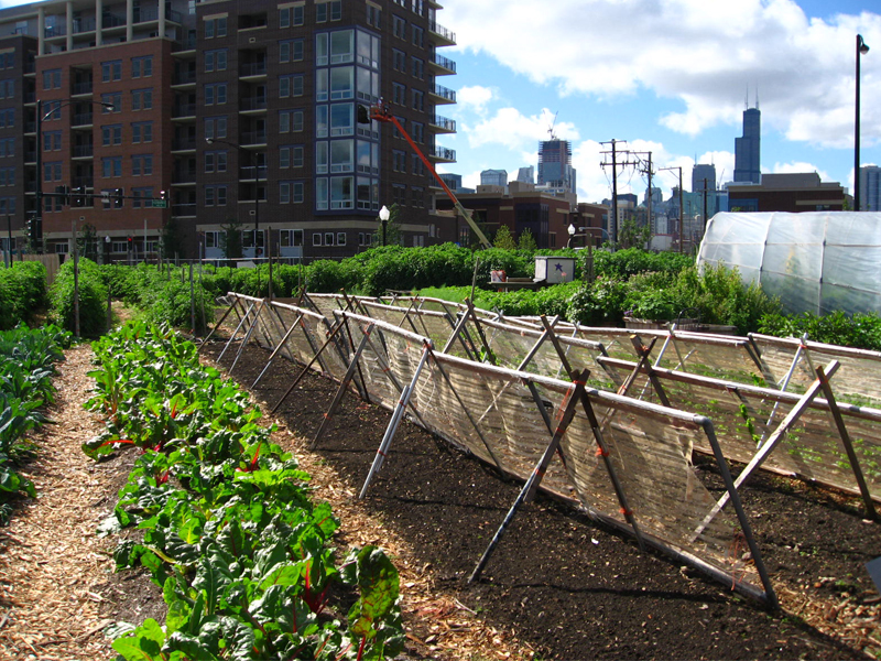
<svg viewBox="0 0 881 661"><path fill-rule="evenodd" d="M204 353L216 357L222 346ZM247 347L231 376L250 386L268 357ZM253 391L264 410L301 369L273 364ZM307 376L279 408L281 424L312 438L335 391L329 380ZM347 393L316 447L352 492L389 420L388 411ZM715 464L696 460L720 489ZM548 498L518 513L481 579L469 584L519 490L492 467L405 423L365 506L432 567L438 588L489 626L513 631L541 658L881 658L881 598L864 568L881 553L881 529L862 518L856 499L764 475L747 485L744 507L782 603L771 614Z"/></svg>

